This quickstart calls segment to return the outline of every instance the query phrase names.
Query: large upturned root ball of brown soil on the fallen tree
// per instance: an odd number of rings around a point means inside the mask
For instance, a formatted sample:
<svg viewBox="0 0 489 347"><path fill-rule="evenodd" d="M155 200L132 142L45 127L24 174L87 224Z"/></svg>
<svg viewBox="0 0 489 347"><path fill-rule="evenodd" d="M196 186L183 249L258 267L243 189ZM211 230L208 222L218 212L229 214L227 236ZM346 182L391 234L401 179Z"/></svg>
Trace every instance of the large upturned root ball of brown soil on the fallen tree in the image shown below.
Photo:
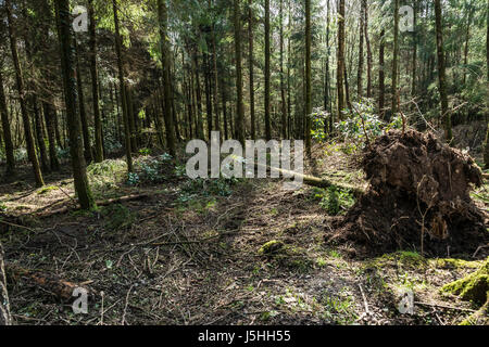
<svg viewBox="0 0 489 347"><path fill-rule="evenodd" d="M462 256L489 241L469 196L482 183L480 169L432 133L389 131L365 149L362 167L369 188L328 243L353 243L352 255L419 252L423 244L425 255Z"/></svg>

